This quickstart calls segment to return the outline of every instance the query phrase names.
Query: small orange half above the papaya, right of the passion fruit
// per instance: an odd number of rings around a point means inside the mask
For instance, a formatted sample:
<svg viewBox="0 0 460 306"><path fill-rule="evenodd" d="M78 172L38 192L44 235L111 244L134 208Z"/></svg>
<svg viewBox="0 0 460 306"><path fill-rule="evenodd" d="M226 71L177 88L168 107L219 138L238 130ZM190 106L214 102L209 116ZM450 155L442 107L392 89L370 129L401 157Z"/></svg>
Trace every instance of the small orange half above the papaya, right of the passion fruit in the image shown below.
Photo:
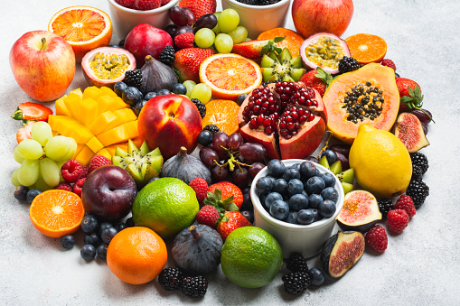
<svg viewBox="0 0 460 306"><path fill-rule="evenodd" d="M360 64L380 62L387 53L387 42L377 35L354 34L347 38L345 42L352 58L358 60Z"/></svg>

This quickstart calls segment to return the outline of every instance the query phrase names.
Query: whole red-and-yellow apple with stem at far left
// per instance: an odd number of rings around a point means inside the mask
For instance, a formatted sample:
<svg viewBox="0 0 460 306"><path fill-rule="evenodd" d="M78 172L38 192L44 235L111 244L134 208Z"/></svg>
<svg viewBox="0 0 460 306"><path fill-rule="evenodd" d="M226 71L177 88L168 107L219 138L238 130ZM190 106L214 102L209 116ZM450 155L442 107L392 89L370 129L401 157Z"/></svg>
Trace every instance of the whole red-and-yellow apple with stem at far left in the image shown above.
<svg viewBox="0 0 460 306"><path fill-rule="evenodd" d="M26 32L10 51L14 79L35 100L61 97L75 74L75 53L61 36L48 31Z"/></svg>

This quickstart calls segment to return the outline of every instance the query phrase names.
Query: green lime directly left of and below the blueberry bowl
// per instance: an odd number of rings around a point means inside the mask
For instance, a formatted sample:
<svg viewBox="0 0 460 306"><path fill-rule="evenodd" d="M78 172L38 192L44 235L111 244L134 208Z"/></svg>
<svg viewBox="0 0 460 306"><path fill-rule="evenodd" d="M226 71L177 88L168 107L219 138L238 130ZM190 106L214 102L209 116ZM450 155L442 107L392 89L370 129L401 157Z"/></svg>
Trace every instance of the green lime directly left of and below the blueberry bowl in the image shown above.
<svg viewBox="0 0 460 306"><path fill-rule="evenodd" d="M221 251L223 274L241 287L259 288L273 281L283 264L277 239L259 227L232 231Z"/></svg>

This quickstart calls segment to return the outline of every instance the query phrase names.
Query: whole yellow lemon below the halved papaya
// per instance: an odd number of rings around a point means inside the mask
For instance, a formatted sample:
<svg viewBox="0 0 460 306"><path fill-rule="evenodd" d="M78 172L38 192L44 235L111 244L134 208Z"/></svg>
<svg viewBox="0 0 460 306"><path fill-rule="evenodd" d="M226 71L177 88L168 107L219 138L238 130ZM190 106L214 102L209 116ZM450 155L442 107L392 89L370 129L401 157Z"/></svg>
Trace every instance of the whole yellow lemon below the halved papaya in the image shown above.
<svg viewBox="0 0 460 306"><path fill-rule="evenodd" d="M410 155L390 132L360 125L349 161L356 181L374 196L396 197L408 188L412 176Z"/></svg>

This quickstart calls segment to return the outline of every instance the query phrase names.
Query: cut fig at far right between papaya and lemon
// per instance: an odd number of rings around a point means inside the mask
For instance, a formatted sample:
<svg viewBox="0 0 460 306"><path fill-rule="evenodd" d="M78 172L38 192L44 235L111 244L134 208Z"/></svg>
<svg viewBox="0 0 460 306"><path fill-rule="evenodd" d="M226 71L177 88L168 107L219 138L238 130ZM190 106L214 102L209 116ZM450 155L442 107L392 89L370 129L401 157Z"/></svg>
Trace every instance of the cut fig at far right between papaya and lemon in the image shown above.
<svg viewBox="0 0 460 306"><path fill-rule="evenodd" d="M401 113L393 127L393 134L406 146L409 153L417 152L429 144L423 125L414 114Z"/></svg>

